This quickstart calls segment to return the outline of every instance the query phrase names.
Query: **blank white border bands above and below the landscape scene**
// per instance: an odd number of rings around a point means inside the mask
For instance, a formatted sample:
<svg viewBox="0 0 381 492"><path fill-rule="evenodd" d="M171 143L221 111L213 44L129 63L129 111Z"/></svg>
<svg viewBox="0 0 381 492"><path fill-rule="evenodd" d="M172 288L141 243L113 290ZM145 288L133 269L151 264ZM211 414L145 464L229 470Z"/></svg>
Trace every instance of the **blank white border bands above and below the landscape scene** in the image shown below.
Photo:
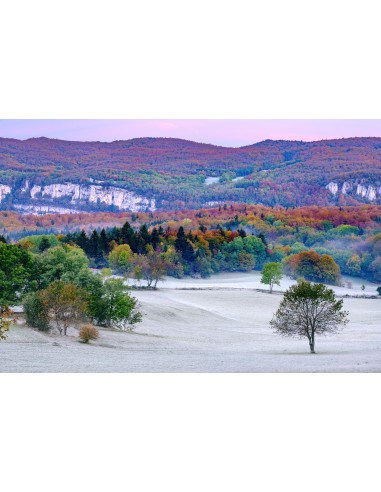
<svg viewBox="0 0 381 492"><path fill-rule="evenodd" d="M2 118L379 118L363 0L14 1ZM378 490L378 375L0 377L7 492Z"/></svg>

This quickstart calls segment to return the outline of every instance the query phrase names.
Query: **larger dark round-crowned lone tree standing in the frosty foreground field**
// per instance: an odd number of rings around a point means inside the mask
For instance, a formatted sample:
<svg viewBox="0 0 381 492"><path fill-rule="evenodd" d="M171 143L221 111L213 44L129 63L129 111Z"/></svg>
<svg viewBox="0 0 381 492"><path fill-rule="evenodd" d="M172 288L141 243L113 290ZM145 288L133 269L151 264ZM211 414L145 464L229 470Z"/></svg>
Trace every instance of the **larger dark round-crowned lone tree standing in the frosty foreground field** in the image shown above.
<svg viewBox="0 0 381 492"><path fill-rule="evenodd" d="M332 289L301 281L286 291L270 325L286 337L307 337L314 354L315 335L336 333L348 323L347 316Z"/></svg>

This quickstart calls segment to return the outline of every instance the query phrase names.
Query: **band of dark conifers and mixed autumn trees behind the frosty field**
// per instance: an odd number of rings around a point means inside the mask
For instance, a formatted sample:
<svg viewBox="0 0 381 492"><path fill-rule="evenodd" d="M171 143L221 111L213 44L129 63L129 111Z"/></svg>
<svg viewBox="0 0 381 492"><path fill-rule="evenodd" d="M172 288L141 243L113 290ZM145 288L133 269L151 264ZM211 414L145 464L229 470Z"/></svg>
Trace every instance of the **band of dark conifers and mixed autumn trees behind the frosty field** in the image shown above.
<svg viewBox="0 0 381 492"><path fill-rule="evenodd" d="M147 281L155 287L165 274L177 278L184 275L209 277L213 273L261 270L268 262L284 264L291 277L331 284L340 282L340 267L330 255L307 248L292 250L288 255L280 247L270 245L264 234L248 234L218 225L197 230L146 224L133 228L127 221L121 228L84 230L60 237L66 244L77 245L86 253L94 268L110 267L116 273ZM39 246L40 248L43 246Z"/></svg>

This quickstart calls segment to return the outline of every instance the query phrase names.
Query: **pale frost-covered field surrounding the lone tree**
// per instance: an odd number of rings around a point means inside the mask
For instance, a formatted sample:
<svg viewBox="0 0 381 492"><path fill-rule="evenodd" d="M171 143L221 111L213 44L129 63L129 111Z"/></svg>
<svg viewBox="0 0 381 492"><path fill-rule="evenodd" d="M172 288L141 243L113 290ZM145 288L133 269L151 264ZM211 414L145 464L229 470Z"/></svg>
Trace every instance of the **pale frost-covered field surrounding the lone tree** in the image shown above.
<svg viewBox="0 0 381 492"><path fill-rule="evenodd" d="M348 293L362 295L360 286ZM264 286L255 273L168 280L158 291L134 293L145 313L135 333L100 330L90 345L79 343L75 330L59 337L18 325L0 342L0 371L381 371L380 299L345 299L350 323L337 335L317 338L317 354L310 355L307 340L272 333L269 321L281 295L253 290L258 287ZM365 293L374 289L366 284Z"/></svg>

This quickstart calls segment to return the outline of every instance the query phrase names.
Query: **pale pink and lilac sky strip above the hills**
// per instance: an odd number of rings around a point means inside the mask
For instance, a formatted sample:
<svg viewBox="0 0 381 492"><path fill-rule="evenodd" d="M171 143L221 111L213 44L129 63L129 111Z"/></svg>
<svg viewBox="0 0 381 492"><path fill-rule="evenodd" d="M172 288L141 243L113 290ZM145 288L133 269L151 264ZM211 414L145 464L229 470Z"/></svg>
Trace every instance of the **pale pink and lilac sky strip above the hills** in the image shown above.
<svg viewBox="0 0 381 492"><path fill-rule="evenodd" d="M240 147L266 139L381 137L381 120L0 120L0 137L128 140L176 137Z"/></svg>

